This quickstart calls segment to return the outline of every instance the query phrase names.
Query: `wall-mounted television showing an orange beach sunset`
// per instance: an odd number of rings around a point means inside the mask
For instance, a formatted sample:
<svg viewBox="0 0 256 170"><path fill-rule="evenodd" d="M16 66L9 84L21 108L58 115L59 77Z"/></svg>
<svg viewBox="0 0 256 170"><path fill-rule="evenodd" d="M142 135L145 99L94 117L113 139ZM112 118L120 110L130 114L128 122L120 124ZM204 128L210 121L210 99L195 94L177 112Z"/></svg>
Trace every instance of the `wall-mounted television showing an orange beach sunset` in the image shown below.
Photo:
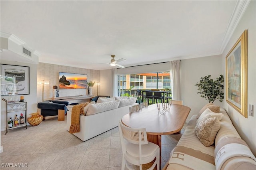
<svg viewBox="0 0 256 170"><path fill-rule="evenodd" d="M86 89L87 75L59 72L59 89Z"/></svg>

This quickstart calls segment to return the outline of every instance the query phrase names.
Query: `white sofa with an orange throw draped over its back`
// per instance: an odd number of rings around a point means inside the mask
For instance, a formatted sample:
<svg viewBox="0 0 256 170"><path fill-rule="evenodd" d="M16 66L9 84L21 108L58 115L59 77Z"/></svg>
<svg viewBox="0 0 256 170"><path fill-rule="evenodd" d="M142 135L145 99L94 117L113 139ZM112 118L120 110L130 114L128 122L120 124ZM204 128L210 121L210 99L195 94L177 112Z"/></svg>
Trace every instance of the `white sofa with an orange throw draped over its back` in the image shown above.
<svg viewBox="0 0 256 170"><path fill-rule="evenodd" d="M86 141L114 127L117 127L122 117L129 113L129 107L133 105L138 105L138 103L135 103L135 97L130 99L121 99L120 97L114 97L114 100L113 98L102 100L105 100L106 102L99 103L98 101L97 103L90 104L87 107L87 115L80 115L80 132L74 133L74 135L80 138L82 141ZM71 125L72 107L73 106L68 106L68 131Z"/></svg>

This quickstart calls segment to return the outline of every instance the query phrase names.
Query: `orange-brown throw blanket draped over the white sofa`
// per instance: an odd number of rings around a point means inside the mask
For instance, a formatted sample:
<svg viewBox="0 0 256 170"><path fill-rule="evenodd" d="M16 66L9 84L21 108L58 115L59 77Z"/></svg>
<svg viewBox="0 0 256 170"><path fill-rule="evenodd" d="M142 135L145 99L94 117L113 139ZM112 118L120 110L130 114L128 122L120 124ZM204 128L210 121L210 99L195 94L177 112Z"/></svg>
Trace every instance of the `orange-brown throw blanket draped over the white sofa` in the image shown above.
<svg viewBox="0 0 256 170"><path fill-rule="evenodd" d="M89 102L86 102L79 105L74 105L74 107L72 107L71 125L69 128L70 133L80 132L80 115L85 115L84 107L86 107L88 104Z"/></svg>

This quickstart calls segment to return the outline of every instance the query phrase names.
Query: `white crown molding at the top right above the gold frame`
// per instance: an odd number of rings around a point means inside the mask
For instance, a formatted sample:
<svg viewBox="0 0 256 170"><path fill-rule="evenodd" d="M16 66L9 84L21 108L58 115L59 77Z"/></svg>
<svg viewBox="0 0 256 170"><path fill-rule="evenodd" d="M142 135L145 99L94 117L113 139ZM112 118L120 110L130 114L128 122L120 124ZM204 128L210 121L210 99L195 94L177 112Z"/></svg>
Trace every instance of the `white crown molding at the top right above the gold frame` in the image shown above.
<svg viewBox="0 0 256 170"><path fill-rule="evenodd" d="M233 11L233 14L230 18L230 21L228 23L228 27L226 29L224 38L222 40L222 44L220 46L220 53L222 54L224 49L226 48L226 45L228 44L231 36L234 33L234 30L236 29L238 23L240 22L246 8L248 7L250 3L250 0L238 0L236 2L235 9Z"/></svg>

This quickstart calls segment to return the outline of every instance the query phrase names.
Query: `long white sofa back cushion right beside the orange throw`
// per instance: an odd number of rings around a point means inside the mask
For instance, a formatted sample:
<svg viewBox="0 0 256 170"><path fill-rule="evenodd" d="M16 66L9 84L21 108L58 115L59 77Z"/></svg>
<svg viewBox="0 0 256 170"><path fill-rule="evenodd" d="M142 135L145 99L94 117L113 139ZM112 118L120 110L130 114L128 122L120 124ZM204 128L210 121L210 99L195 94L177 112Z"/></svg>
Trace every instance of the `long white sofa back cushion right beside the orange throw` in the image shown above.
<svg viewBox="0 0 256 170"><path fill-rule="evenodd" d="M120 100L91 104L86 116L118 108Z"/></svg>

